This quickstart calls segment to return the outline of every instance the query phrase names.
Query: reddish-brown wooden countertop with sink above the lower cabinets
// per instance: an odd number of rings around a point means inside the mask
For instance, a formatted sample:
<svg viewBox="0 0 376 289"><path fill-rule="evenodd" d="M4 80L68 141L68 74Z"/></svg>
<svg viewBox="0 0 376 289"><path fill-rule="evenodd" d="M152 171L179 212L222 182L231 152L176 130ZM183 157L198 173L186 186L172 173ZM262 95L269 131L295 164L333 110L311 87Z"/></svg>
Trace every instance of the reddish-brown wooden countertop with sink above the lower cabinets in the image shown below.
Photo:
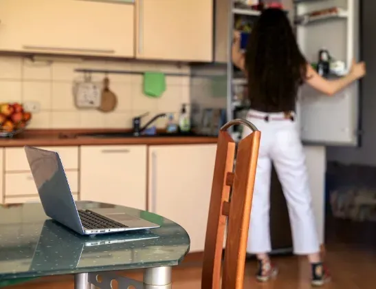
<svg viewBox="0 0 376 289"><path fill-rule="evenodd" d="M162 136L162 137L126 137L126 138L94 138L80 136L80 133L93 132L121 132L125 130L113 129L29 129L13 138L0 138L0 147L52 147L52 146L79 146L79 145L110 145L110 144L214 144L216 137L209 136Z"/></svg>

